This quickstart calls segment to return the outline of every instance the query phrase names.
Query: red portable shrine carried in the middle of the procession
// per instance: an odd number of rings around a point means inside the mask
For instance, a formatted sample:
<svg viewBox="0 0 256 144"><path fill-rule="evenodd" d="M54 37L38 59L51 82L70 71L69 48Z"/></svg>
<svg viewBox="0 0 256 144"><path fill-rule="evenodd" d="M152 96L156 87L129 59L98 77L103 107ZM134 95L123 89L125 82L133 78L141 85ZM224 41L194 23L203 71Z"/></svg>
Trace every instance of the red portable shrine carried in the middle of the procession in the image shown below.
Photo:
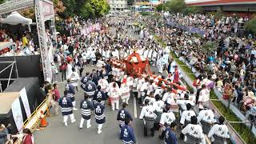
<svg viewBox="0 0 256 144"><path fill-rule="evenodd" d="M141 76L142 74L152 74L149 60L142 58L138 53L130 54L126 59L127 74Z"/></svg>

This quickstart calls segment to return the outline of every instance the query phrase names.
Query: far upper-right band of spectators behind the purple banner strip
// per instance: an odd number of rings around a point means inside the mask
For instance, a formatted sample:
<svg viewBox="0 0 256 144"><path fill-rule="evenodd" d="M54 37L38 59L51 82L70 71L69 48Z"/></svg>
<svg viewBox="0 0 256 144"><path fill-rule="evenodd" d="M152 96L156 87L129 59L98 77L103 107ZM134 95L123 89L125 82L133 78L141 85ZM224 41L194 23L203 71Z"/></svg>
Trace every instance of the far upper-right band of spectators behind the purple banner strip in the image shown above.
<svg viewBox="0 0 256 144"><path fill-rule="evenodd" d="M242 18L233 14L216 18L214 14L170 14L168 19L184 26L206 30L206 38L218 38L220 34L238 34L243 29L248 17Z"/></svg>

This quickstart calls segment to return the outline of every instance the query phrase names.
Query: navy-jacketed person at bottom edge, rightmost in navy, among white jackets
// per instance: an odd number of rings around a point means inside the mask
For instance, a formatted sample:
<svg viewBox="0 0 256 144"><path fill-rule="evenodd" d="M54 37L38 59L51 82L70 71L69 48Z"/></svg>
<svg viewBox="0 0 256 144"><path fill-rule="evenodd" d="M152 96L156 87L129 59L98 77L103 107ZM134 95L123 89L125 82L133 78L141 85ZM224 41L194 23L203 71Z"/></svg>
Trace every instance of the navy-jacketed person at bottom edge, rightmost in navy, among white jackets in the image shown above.
<svg viewBox="0 0 256 144"><path fill-rule="evenodd" d="M178 144L177 136L174 131L177 129L177 123L171 122L166 124L165 144Z"/></svg>

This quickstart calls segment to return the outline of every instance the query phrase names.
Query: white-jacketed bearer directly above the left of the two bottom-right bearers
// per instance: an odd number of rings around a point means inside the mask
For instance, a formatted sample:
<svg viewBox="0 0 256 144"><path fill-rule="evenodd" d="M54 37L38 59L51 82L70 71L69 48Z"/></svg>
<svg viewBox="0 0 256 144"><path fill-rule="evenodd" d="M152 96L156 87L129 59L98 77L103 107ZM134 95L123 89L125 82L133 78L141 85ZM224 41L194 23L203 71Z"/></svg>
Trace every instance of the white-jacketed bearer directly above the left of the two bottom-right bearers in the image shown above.
<svg viewBox="0 0 256 144"><path fill-rule="evenodd" d="M191 117L196 116L194 110L192 110L192 106L190 103L186 104L186 110L182 112L181 120L180 120L180 125L182 128L184 128L188 123L191 122Z"/></svg>

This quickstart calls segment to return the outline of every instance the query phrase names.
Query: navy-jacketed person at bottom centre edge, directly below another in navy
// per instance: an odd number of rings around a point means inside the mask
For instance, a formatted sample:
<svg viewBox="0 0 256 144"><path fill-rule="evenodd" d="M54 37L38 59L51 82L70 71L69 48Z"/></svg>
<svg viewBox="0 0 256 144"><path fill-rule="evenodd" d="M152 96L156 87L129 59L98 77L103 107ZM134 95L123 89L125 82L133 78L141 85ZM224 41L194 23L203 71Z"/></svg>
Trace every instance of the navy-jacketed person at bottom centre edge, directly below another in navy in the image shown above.
<svg viewBox="0 0 256 144"><path fill-rule="evenodd" d="M136 138L134 136L134 129L130 126L130 119L126 118L125 126L122 126L120 139L123 144L134 144L136 143Z"/></svg>

